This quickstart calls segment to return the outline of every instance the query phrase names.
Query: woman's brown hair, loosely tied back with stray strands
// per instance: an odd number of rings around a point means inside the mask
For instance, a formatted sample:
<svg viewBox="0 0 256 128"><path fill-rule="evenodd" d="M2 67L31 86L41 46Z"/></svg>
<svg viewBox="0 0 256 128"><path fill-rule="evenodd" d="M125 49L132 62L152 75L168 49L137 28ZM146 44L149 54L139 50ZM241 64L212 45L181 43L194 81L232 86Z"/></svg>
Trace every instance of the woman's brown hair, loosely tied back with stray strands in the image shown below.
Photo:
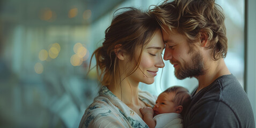
<svg viewBox="0 0 256 128"><path fill-rule="evenodd" d="M92 57L95 55L96 58L97 74L101 85L109 85L111 81L115 81L116 75L120 76L118 74L119 60L116 57L116 47L121 49L121 51L117 52L123 52L128 56L127 61L136 61L134 66L127 65L133 66L132 70L127 74L129 76L138 68L144 46L150 42L155 32L160 29L156 18L152 15L134 7L121 9L126 10L114 17L111 25L105 30L103 45L92 54ZM135 56L137 50L140 53L139 57ZM138 60L135 58L138 58Z"/></svg>

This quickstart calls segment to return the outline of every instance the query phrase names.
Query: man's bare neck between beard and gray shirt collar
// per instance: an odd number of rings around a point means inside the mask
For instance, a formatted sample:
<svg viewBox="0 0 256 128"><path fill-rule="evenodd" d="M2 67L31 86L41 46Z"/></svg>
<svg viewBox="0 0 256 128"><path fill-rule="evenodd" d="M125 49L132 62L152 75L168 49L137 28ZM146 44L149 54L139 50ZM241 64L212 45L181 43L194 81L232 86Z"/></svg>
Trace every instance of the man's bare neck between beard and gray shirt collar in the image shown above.
<svg viewBox="0 0 256 128"><path fill-rule="evenodd" d="M196 93L202 90L204 87L209 86L218 77L231 74L228 67L226 67L223 58L217 61L207 61L207 63L205 63L205 66L206 73L200 76L196 76L199 81L199 86Z"/></svg>

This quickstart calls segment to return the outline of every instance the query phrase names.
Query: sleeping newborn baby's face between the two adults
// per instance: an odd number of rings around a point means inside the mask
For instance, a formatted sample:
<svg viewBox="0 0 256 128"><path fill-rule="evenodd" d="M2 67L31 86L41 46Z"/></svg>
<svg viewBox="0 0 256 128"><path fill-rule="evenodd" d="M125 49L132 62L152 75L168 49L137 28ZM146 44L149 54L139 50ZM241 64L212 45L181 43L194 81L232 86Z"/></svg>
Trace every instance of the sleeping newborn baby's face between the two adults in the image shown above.
<svg viewBox="0 0 256 128"><path fill-rule="evenodd" d="M175 95L173 93L161 93L156 100L155 107L153 108L154 116L163 113L175 113L177 105L172 102L174 96Z"/></svg>

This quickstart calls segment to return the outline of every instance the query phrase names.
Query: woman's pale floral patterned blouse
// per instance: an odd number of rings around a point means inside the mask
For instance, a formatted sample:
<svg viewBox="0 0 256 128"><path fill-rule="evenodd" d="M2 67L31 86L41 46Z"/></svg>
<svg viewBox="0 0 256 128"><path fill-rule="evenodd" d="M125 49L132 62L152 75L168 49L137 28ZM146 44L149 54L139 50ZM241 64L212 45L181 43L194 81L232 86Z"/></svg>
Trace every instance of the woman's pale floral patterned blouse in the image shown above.
<svg viewBox="0 0 256 128"><path fill-rule="evenodd" d="M139 91L139 98L147 106L153 107L157 97L149 92ZM85 110L79 127L148 127L148 125L106 86L102 86L99 96Z"/></svg>

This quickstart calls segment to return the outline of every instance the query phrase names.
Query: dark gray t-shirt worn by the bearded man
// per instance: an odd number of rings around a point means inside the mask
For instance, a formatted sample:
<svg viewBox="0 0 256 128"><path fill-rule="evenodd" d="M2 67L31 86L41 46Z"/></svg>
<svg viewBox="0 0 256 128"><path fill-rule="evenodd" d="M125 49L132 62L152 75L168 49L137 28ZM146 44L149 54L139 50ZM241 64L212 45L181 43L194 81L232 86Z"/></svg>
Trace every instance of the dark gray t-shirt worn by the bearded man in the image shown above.
<svg viewBox="0 0 256 128"><path fill-rule="evenodd" d="M184 127L255 127L252 106L236 77L224 75L196 93Z"/></svg>

